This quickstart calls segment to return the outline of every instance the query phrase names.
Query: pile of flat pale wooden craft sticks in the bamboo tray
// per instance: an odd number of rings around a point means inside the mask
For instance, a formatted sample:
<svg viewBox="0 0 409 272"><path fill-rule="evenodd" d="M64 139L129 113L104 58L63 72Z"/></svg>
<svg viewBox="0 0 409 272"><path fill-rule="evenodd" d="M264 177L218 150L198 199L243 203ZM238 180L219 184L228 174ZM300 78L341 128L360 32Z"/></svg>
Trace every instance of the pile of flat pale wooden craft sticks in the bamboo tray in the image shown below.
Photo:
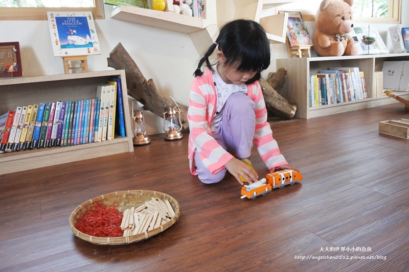
<svg viewBox="0 0 409 272"><path fill-rule="evenodd" d="M175 216L175 212L169 200L163 201L157 197L151 197L139 207L131 207L124 211L121 229L124 236L140 234L160 227Z"/></svg>

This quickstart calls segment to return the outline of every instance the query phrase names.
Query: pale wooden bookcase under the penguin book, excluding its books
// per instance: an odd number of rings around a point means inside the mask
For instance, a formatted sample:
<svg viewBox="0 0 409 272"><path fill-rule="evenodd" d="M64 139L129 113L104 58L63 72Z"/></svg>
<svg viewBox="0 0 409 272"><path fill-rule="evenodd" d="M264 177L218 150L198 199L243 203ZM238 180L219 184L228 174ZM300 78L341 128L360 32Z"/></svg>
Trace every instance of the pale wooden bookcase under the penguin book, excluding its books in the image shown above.
<svg viewBox="0 0 409 272"><path fill-rule="evenodd" d="M133 152L125 71L73 73L0 80L0 112L46 102L76 101L95 98L97 85L110 77L121 78L126 136L113 140L71 146L47 147L0 154L0 175L66 162L85 160L123 152Z"/></svg>

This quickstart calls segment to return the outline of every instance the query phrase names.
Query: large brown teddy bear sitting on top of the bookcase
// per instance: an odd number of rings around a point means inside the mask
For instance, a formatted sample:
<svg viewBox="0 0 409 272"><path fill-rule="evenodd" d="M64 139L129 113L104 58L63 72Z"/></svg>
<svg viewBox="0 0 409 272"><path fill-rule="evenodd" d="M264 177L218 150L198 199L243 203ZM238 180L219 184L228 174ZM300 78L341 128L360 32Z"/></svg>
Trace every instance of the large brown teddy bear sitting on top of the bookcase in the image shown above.
<svg viewBox="0 0 409 272"><path fill-rule="evenodd" d="M319 56L356 55L359 44L350 33L353 0L323 0L315 16L314 51Z"/></svg>

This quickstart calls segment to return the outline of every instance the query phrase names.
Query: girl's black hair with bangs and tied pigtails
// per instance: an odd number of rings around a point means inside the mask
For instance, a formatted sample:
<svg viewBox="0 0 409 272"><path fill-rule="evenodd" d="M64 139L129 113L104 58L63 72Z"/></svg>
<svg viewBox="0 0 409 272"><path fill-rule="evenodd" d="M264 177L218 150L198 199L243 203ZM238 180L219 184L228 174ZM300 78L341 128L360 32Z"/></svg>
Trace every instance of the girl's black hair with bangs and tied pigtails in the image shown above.
<svg viewBox="0 0 409 272"><path fill-rule="evenodd" d="M256 71L256 75L246 84L259 80L261 72L270 65L270 43L263 27L252 20L238 19L226 23L220 29L216 42L200 59L194 76L203 75L200 67L205 62L206 66L212 70L209 57L217 46L226 58L224 65L232 66L237 63L237 71Z"/></svg>

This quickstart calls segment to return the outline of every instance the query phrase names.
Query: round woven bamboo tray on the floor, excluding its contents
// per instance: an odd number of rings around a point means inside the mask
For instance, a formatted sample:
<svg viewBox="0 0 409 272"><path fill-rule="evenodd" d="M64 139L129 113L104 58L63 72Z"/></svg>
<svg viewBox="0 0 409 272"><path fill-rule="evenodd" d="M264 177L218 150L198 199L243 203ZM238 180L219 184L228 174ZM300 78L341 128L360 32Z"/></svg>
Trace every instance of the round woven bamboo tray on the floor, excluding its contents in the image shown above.
<svg viewBox="0 0 409 272"><path fill-rule="evenodd" d="M113 203L118 203L117 209L120 212L124 212L126 209L131 207L139 207L143 205L145 202L150 201L151 197L156 197L158 199L162 199L163 201L168 200L170 205L173 208L174 216L170 218L168 222L165 224L161 224L159 227L154 228L150 231L145 231L135 235L129 236L122 236L122 237L98 237L98 236L90 236L83 232L80 232L75 228L75 224L77 223L78 218L81 214L87 211L95 202L102 202L103 204L110 206ZM180 208L179 203L170 195L157 192L157 191L150 191L150 190L128 190L128 191L119 191L119 192L112 192L108 194L103 194L100 196L95 197L94 199L90 199L80 206L76 208L70 215L69 224L71 231L80 239L83 239L87 242L91 242L94 244L128 244L133 242L138 242L141 240L148 239L158 233L163 232L164 230L171 227L176 220L180 216Z"/></svg>

